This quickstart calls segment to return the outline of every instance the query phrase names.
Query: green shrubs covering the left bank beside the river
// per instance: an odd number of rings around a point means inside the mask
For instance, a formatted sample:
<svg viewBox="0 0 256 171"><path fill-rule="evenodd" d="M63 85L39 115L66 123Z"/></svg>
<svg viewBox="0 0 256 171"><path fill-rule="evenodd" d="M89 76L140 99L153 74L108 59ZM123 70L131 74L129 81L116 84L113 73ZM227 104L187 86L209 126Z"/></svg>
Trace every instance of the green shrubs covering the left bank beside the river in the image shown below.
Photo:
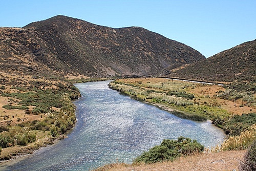
<svg viewBox="0 0 256 171"><path fill-rule="evenodd" d="M2 96L19 99L19 105L8 104L6 109L25 110L30 115L45 114L43 120L19 122L16 125L0 127L0 147L6 148L14 145L27 145L36 140L37 131L48 131L52 137L66 133L72 129L76 122L75 105L71 99L80 96L79 91L72 84L56 83L54 89L44 89L45 82L35 81L28 92L2 93ZM19 88L15 88L19 89ZM28 105L33 105L33 110L28 110ZM54 111L51 108L60 108ZM20 121L17 118L17 121Z"/></svg>

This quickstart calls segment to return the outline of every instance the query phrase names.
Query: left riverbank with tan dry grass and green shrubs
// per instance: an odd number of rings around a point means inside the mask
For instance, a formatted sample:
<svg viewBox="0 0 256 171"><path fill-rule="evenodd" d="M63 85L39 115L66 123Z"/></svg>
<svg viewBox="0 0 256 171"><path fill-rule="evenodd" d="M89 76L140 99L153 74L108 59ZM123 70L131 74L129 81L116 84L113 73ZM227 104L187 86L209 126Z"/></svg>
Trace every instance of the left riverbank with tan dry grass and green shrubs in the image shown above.
<svg viewBox="0 0 256 171"><path fill-rule="evenodd" d="M72 100L80 93L73 83L97 80L2 73L0 160L32 153L64 138L76 122Z"/></svg>

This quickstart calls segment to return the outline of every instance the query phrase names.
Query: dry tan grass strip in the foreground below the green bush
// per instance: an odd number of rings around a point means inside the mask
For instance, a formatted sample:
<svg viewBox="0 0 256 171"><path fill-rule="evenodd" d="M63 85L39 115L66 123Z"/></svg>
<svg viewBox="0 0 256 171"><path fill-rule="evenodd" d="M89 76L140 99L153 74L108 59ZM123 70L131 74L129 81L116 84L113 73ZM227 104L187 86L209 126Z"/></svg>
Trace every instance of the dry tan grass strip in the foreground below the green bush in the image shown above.
<svg viewBox="0 0 256 171"><path fill-rule="evenodd" d="M155 164L110 164L96 169L95 171L166 171L166 170L238 170L238 164L242 160L244 151L229 151L211 154L199 154L195 156L182 157L174 162L163 162Z"/></svg>

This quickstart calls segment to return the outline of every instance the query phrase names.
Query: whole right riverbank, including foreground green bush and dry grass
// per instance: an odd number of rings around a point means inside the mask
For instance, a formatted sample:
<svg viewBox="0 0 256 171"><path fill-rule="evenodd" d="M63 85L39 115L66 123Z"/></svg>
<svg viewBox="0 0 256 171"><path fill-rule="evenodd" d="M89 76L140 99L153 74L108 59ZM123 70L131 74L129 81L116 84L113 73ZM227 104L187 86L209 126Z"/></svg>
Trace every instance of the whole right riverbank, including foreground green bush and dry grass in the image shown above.
<svg viewBox="0 0 256 171"><path fill-rule="evenodd" d="M238 169L238 165L240 169L248 170L246 168L255 165L256 96L255 84L246 84L243 87L241 83L234 82L222 87L162 78L118 79L111 82L110 88L180 117L192 120L211 119L213 124L225 131L228 138L221 145L203 149L193 148L194 145L186 143L176 147L175 144L180 142L181 137L178 141L163 140L160 145L137 157L133 164L114 163L95 170L232 170ZM191 140L186 142L191 143ZM241 161L244 149L248 147L250 150L244 161ZM181 153L183 148L190 152L196 149L197 153L189 153L187 157L186 153ZM179 160L175 160L177 158Z"/></svg>

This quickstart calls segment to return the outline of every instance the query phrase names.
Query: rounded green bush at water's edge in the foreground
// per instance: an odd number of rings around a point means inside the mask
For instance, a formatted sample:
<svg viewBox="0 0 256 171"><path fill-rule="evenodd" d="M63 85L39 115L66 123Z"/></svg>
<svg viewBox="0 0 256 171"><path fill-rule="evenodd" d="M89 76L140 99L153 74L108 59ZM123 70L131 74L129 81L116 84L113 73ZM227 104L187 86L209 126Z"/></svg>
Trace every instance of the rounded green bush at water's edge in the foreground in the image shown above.
<svg viewBox="0 0 256 171"><path fill-rule="evenodd" d="M156 145L148 152L144 152L135 159L135 163L155 163L173 161L180 156L187 156L204 151L204 146L190 138L179 137L178 140L165 139L160 145Z"/></svg>

